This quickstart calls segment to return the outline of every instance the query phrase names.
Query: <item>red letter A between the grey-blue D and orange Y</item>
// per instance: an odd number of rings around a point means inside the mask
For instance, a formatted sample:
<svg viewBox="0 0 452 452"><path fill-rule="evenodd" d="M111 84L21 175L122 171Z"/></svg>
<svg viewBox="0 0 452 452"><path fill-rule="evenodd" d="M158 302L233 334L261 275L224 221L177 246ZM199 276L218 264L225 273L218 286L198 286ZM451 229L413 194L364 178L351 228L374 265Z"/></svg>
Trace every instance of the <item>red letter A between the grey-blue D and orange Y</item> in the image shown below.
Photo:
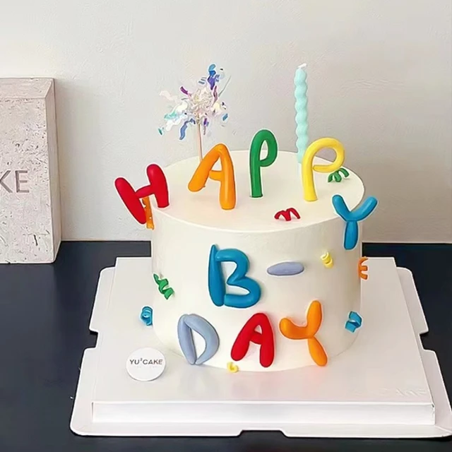
<svg viewBox="0 0 452 452"><path fill-rule="evenodd" d="M258 326L261 328L261 332L256 331ZM243 359L251 342L261 345L259 362L262 367L269 367L275 357L275 339L273 338L273 328L268 316L263 314L263 312L254 314L244 324L234 341L234 345L232 345L231 358L234 361Z"/></svg>

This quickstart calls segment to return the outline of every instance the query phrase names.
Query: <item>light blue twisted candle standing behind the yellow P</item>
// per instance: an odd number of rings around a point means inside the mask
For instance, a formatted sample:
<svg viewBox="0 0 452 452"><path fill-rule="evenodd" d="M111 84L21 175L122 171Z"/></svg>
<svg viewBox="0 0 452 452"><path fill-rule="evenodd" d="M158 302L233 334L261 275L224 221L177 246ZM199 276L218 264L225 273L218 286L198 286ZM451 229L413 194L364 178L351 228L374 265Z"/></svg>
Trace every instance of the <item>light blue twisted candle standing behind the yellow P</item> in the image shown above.
<svg viewBox="0 0 452 452"><path fill-rule="evenodd" d="M306 64L298 66L295 72L295 122L297 123L297 159L301 163L304 151L308 147L308 98L306 83Z"/></svg>

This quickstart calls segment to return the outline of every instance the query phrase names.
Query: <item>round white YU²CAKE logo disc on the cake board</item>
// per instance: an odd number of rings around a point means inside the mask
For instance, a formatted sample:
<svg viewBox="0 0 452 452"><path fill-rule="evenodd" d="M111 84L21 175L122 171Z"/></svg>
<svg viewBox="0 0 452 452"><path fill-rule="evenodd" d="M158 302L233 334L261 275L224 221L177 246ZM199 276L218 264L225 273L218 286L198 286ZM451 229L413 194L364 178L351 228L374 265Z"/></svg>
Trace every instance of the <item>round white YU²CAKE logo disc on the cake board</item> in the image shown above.
<svg viewBox="0 0 452 452"><path fill-rule="evenodd" d="M162 375L165 364L161 352L155 348L141 348L127 358L126 369L135 380L151 381Z"/></svg>

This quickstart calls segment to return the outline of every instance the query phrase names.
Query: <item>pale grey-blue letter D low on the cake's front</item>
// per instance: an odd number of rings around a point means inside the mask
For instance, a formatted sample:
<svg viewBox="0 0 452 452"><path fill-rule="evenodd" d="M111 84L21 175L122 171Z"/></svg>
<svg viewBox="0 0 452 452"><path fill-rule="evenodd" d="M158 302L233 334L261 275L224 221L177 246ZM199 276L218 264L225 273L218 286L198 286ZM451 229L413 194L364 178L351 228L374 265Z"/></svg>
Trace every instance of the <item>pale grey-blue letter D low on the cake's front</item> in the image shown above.
<svg viewBox="0 0 452 452"><path fill-rule="evenodd" d="M206 341L206 348L200 357L196 357L196 347L191 331L196 331ZM184 314L177 322L179 345L189 364L203 364L218 351L220 338L215 328L198 314Z"/></svg>

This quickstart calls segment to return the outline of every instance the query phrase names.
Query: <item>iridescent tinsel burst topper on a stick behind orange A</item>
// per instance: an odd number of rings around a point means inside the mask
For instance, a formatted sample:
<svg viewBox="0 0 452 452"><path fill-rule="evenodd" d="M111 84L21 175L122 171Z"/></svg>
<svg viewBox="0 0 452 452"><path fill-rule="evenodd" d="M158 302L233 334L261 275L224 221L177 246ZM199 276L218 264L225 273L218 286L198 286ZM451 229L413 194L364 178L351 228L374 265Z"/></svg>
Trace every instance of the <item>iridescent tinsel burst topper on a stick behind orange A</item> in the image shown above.
<svg viewBox="0 0 452 452"><path fill-rule="evenodd" d="M224 78L223 69L217 69L215 64L210 64L208 76L201 77L194 90L190 91L184 86L180 87L182 97L172 96L167 91L160 93L167 100L174 102L171 112L163 117L165 126L159 127L160 135L163 135L165 131L170 131L174 126L180 126L179 140L183 140L186 137L186 129L191 124L195 125L198 134L199 160L203 158L202 135L206 134L212 120L220 117L221 121L225 122L228 117L225 102L220 100L220 96L230 81L228 78L220 90L219 85Z"/></svg>

